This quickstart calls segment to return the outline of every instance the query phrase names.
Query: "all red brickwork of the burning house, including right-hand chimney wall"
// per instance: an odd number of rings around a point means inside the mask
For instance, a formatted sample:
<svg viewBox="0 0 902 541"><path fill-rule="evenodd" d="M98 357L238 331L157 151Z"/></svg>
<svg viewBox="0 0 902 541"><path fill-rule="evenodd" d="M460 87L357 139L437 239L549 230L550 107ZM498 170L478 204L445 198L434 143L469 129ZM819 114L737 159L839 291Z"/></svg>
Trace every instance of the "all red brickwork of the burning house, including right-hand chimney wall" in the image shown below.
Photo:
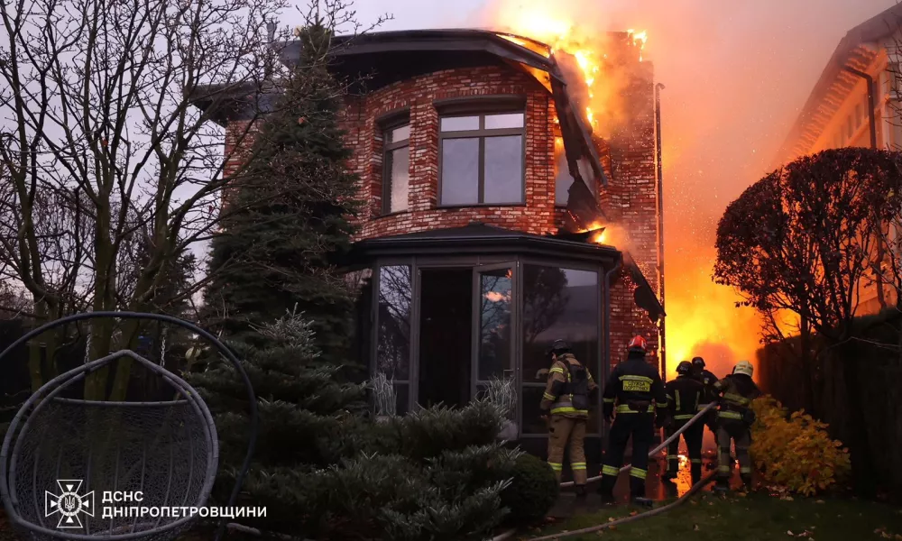
<svg viewBox="0 0 902 541"><path fill-rule="evenodd" d="M657 180L653 78L648 63L636 62L628 88L629 122L610 141L598 141L607 188L595 187L608 217L629 234L628 246L652 288L657 288ZM526 96L525 205L439 208L438 113L436 100L467 96ZM382 215L382 133L378 119L392 113L410 114L410 185L408 211ZM556 231L563 224L563 209L555 206L555 106L538 82L510 67L484 66L447 69L409 78L348 101L342 125L346 142L354 150L348 164L361 181L360 196L367 202L356 240L428 229L467 225L478 221L530 234ZM226 130L242 133L246 123ZM234 142L232 143L234 144ZM235 164L226 164L226 172ZM636 307L635 286L620 272L611 290L612 363L624 356L632 335L642 334L657 349L658 329ZM656 362L656 361L655 361Z"/></svg>

